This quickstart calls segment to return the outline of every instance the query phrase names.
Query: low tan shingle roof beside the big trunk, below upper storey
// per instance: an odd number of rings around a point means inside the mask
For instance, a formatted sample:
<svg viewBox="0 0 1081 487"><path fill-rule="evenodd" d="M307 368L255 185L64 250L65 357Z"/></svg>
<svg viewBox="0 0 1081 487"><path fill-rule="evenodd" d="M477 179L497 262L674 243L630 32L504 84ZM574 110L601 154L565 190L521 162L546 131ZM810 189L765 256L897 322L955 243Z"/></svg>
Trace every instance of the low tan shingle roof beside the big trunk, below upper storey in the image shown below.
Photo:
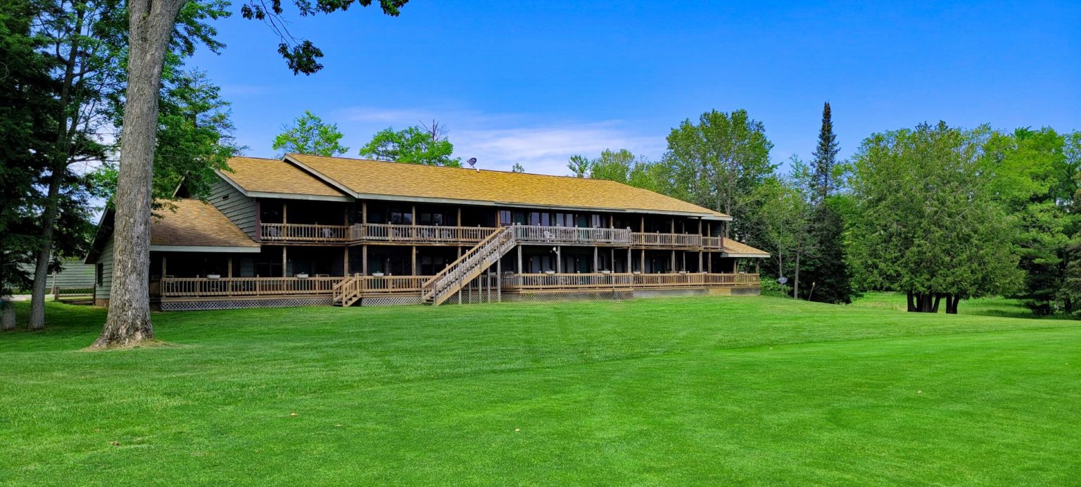
<svg viewBox="0 0 1081 487"><path fill-rule="evenodd" d="M210 203L199 200L166 202L157 215L150 222L150 245L259 246Z"/></svg>

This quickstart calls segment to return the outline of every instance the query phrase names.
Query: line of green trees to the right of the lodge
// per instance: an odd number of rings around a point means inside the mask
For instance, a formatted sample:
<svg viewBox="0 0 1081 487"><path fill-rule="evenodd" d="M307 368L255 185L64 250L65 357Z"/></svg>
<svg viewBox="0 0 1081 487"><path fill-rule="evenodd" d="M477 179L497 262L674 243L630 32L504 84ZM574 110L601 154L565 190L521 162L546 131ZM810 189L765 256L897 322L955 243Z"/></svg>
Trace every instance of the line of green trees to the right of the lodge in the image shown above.
<svg viewBox="0 0 1081 487"><path fill-rule="evenodd" d="M947 313L1009 296L1037 314L1079 311L1081 132L921 123L840 160L827 103L813 158L785 171L746 110L684 120L667 141L657 161L605 150L568 168L733 216L724 236L771 254L766 293L846 303L894 290L909 311L945 301Z"/></svg>

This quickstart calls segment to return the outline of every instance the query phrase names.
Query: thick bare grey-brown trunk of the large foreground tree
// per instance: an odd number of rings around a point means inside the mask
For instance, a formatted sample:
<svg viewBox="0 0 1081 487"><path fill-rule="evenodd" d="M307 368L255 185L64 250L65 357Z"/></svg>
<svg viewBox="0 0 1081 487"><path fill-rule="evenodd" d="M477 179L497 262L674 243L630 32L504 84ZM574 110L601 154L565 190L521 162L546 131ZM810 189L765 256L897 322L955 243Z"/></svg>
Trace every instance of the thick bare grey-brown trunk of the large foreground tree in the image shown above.
<svg viewBox="0 0 1081 487"><path fill-rule="evenodd" d="M93 348L154 338L150 323L150 203L161 70L176 14L186 0L129 0L128 60L114 230L109 315Z"/></svg>

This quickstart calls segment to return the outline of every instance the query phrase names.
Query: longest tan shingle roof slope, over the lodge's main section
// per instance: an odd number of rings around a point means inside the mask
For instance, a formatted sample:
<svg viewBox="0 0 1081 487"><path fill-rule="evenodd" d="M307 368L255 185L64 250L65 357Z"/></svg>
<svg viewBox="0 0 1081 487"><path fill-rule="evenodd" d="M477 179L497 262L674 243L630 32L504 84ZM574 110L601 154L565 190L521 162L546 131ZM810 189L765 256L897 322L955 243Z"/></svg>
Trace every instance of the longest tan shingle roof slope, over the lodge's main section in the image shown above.
<svg viewBox="0 0 1081 487"><path fill-rule="evenodd" d="M675 198L602 179L306 154L289 157L362 194L724 216Z"/></svg>

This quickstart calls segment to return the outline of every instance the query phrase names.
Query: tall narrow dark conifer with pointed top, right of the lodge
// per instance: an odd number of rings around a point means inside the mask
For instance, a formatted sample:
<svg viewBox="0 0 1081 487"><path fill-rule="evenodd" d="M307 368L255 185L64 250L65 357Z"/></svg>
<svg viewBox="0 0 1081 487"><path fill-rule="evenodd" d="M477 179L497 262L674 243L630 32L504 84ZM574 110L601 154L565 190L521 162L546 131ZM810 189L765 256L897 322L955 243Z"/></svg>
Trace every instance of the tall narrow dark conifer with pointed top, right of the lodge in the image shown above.
<svg viewBox="0 0 1081 487"><path fill-rule="evenodd" d="M848 303L852 302L854 292L844 261L844 219L830 201L839 189L837 154L840 151L831 116L827 102L822 110L822 130L818 132L811 177L811 198L815 208L809 231L815 252L804 261L802 281L805 284L801 286L798 297Z"/></svg>

